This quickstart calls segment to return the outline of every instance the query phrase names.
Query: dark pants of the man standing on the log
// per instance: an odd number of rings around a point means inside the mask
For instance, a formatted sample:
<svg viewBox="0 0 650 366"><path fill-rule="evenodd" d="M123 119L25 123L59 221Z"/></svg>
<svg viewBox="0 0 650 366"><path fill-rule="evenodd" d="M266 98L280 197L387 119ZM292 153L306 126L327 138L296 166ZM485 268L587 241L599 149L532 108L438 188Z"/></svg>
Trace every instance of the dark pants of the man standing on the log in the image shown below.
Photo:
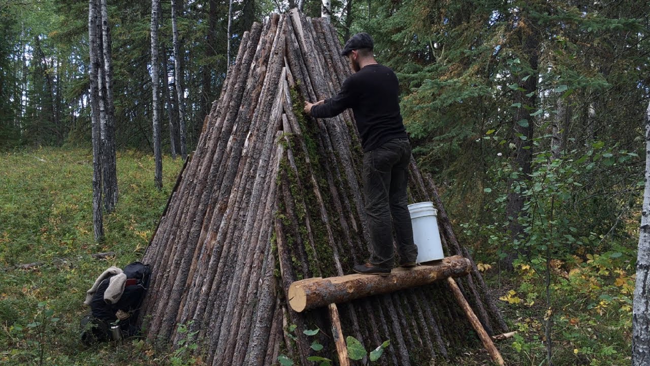
<svg viewBox="0 0 650 366"><path fill-rule="evenodd" d="M414 262L417 247L408 212L408 139L393 139L363 154L365 210L370 229L370 263L392 268L395 264L393 229L400 262ZM391 216L393 219L391 220Z"/></svg>

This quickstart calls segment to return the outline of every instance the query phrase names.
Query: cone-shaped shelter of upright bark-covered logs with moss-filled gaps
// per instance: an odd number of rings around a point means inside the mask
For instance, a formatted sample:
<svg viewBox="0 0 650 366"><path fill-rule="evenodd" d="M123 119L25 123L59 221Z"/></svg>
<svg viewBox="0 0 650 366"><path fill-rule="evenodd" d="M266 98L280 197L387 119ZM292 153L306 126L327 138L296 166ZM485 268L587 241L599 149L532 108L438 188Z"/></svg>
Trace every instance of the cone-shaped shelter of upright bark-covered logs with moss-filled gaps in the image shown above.
<svg viewBox="0 0 650 366"><path fill-rule="evenodd" d="M151 341L177 343L187 324L211 365L272 365L285 354L336 358L327 307L296 313L292 282L349 274L369 253L363 152L351 111L302 115L352 70L333 27L296 10L244 33L198 147L179 176L144 262ZM430 177L411 162L409 199L433 201L447 256L469 259ZM488 333L505 330L474 262L458 287ZM367 349L391 343L380 365L422 365L476 343L443 282L339 305L344 335ZM295 324L291 333L289 324ZM321 330L307 337L303 330ZM295 338L295 340L294 340ZM317 339L320 352L309 348Z"/></svg>

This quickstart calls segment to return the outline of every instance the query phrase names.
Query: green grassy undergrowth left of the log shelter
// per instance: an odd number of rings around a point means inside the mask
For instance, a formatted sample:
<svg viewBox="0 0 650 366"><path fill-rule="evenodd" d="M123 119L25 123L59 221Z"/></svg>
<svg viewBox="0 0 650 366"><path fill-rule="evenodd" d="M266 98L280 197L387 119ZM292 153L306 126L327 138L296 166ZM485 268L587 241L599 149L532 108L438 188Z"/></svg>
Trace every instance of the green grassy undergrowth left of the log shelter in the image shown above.
<svg viewBox="0 0 650 366"><path fill-rule="evenodd" d="M165 363L146 343L86 348L79 320L85 292L109 266L142 258L181 159L163 160L163 189L153 186L153 158L118 152L120 201L105 214L105 240L92 233L90 150L43 148L0 156L0 364L144 365ZM114 252L107 259L91 254ZM29 269L16 268L33 264ZM41 358L42 356L42 358ZM162 359L166 361L161 361Z"/></svg>

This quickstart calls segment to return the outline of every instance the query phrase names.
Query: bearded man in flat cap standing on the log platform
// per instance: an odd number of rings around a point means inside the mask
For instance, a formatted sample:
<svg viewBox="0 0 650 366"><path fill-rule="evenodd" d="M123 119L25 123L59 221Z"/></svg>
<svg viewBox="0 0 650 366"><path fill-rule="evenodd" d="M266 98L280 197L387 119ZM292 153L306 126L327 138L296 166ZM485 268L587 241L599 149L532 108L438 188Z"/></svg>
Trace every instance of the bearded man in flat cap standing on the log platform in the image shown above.
<svg viewBox="0 0 650 366"><path fill-rule="evenodd" d="M375 61L373 48L367 33L352 36L341 55L348 57L355 74L343 82L333 98L315 104L305 101L304 112L328 118L352 108L363 147L363 187L371 242L369 261L355 265L354 272L388 275L395 265L391 226L400 266L415 266L417 257L406 206L411 145L400 115L397 77Z"/></svg>

